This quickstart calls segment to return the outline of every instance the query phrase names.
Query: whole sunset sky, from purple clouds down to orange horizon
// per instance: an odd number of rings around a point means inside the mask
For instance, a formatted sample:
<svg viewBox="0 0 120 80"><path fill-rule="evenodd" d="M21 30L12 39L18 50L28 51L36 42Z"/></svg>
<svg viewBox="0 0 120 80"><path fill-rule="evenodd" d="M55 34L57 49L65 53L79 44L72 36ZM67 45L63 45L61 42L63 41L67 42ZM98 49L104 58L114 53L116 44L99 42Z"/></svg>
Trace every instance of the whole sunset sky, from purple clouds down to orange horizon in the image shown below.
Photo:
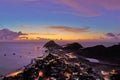
<svg viewBox="0 0 120 80"><path fill-rule="evenodd" d="M120 0L0 0L0 40L120 41Z"/></svg>

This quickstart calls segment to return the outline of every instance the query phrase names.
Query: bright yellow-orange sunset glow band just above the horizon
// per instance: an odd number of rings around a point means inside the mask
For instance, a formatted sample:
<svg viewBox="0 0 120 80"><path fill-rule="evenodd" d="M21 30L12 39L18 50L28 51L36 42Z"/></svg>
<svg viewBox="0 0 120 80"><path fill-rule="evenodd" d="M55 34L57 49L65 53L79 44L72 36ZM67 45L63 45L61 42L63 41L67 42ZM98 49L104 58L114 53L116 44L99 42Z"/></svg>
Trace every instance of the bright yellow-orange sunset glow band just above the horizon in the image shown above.
<svg viewBox="0 0 120 80"><path fill-rule="evenodd" d="M20 35L16 40L45 40L45 39L53 39L53 40L99 40L100 37L97 35L80 35L80 34L55 34L55 35L40 35L40 34L27 34Z"/></svg>

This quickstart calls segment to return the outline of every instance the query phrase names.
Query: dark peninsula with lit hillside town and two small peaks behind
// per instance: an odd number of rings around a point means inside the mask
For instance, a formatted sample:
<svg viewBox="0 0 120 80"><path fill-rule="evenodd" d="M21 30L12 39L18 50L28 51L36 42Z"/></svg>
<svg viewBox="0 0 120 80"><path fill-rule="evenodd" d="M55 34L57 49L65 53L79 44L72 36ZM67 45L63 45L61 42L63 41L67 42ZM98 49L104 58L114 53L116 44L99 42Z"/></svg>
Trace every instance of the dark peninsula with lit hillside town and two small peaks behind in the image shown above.
<svg viewBox="0 0 120 80"><path fill-rule="evenodd" d="M78 43L59 46L49 41L44 47L47 50L43 57L31 60L24 69L3 76L2 80L120 80L119 65L89 62L80 56L86 48ZM103 70L106 68L110 70Z"/></svg>

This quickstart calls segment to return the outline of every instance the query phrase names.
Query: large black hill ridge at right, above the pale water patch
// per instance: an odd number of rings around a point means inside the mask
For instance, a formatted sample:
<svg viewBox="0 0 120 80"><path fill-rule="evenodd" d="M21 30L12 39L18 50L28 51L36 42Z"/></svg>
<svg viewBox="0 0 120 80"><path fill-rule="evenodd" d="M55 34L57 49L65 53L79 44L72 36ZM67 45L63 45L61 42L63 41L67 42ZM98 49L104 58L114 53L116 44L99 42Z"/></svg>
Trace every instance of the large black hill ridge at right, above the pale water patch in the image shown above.
<svg viewBox="0 0 120 80"><path fill-rule="evenodd" d="M120 64L120 45L113 45L110 47L97 45L81 49L77 51L77 54L84 57L95 58Z"/></svg>

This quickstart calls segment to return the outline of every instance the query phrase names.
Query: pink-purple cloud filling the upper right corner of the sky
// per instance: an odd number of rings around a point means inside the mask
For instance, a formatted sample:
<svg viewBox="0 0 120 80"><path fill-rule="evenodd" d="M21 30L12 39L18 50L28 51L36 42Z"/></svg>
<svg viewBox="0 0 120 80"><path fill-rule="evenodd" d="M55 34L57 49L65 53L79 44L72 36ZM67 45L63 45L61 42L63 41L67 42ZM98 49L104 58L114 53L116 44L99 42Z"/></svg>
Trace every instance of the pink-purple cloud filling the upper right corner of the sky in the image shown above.
<svg viewBox="0 0 120 80"><path fill-rule="evenodd" d="M59 0L58 2L70 7L72 10L69 13L77 16L99 16L106 11L120 10L120 0Z"/></svg>

